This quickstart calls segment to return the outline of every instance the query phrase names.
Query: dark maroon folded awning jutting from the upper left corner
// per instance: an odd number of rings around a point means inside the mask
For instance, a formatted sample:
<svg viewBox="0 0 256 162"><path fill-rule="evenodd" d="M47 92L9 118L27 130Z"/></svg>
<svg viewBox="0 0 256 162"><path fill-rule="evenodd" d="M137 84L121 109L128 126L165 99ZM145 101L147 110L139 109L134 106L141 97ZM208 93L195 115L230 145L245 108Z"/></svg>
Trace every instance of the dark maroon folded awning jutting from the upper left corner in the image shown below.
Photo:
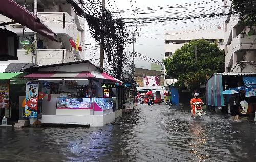
<svg viewBox="0 0 256 162"><path fill-rule="evenodd" d="M31 14L24 7L20 6L13 0L5 0L0 5L0 14L26 26L42 36L45 36L53 41L57 40L57 35L43 24L38 17Z"/></svg>

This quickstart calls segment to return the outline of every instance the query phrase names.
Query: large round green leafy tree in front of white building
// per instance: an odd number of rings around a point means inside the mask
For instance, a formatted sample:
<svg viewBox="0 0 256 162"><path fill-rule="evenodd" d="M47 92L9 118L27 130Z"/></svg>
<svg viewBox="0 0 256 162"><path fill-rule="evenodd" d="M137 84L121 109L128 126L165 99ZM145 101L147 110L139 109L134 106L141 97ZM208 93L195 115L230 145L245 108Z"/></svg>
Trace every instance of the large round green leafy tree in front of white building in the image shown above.
<svg viewBox="0 0 256 162"><path fill-rule="evenodd" d="M198 61L195 57L197 46ZM198 89L215 72L224 71L224 50L220 50L217 43L209 43L204 39L192 40L175 51L172 58L163 60L167 75L178 82L179 89L190 91Z"/></svg>

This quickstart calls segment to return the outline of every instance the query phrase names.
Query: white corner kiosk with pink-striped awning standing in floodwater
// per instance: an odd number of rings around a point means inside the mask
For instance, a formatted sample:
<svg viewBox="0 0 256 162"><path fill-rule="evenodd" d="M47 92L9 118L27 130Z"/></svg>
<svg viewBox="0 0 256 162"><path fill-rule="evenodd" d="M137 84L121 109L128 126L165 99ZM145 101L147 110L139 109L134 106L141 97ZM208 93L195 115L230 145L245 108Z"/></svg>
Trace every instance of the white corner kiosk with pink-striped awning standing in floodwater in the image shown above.
<svg viewBox="0 0 256 162"><path fill-rule="evenodd" d="M103 126L115 119L119 80L89 61L30 68L25 117L42 124ZM33 121L32 119L30 119ZM31 123L32 124L32 123Z"/></svg>

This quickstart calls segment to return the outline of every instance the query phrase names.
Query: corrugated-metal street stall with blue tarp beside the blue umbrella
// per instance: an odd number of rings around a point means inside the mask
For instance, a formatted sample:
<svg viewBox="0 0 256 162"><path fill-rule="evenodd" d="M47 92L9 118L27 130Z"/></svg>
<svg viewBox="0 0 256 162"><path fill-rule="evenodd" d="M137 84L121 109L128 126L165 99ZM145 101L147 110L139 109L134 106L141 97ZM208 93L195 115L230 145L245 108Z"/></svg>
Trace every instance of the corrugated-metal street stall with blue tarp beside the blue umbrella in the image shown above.
<svg viewBox="0 0 256 162"><path fill-rule="evenodd" d="M206 83L206 104L222 108L228 112L228 100L231 94L222 94L224 90L239 92L241 114L254 113L256 110L256 74L255 73L215 73ZM243 101L243 102L242 102Z"/></svg>

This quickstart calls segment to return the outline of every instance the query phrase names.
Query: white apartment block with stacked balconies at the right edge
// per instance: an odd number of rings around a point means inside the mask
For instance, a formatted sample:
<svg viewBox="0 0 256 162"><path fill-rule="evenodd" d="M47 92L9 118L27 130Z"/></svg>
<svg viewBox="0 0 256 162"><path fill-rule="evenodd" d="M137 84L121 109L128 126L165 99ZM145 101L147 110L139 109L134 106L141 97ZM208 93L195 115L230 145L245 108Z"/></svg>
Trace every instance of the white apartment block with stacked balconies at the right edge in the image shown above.
<svg viewBox="0 0 256 162"><path fill-rule="evenodd" d="M254 34L239 25L239 16L229 16L225 21L225 72L256 72L256 26Z"/></svg>

